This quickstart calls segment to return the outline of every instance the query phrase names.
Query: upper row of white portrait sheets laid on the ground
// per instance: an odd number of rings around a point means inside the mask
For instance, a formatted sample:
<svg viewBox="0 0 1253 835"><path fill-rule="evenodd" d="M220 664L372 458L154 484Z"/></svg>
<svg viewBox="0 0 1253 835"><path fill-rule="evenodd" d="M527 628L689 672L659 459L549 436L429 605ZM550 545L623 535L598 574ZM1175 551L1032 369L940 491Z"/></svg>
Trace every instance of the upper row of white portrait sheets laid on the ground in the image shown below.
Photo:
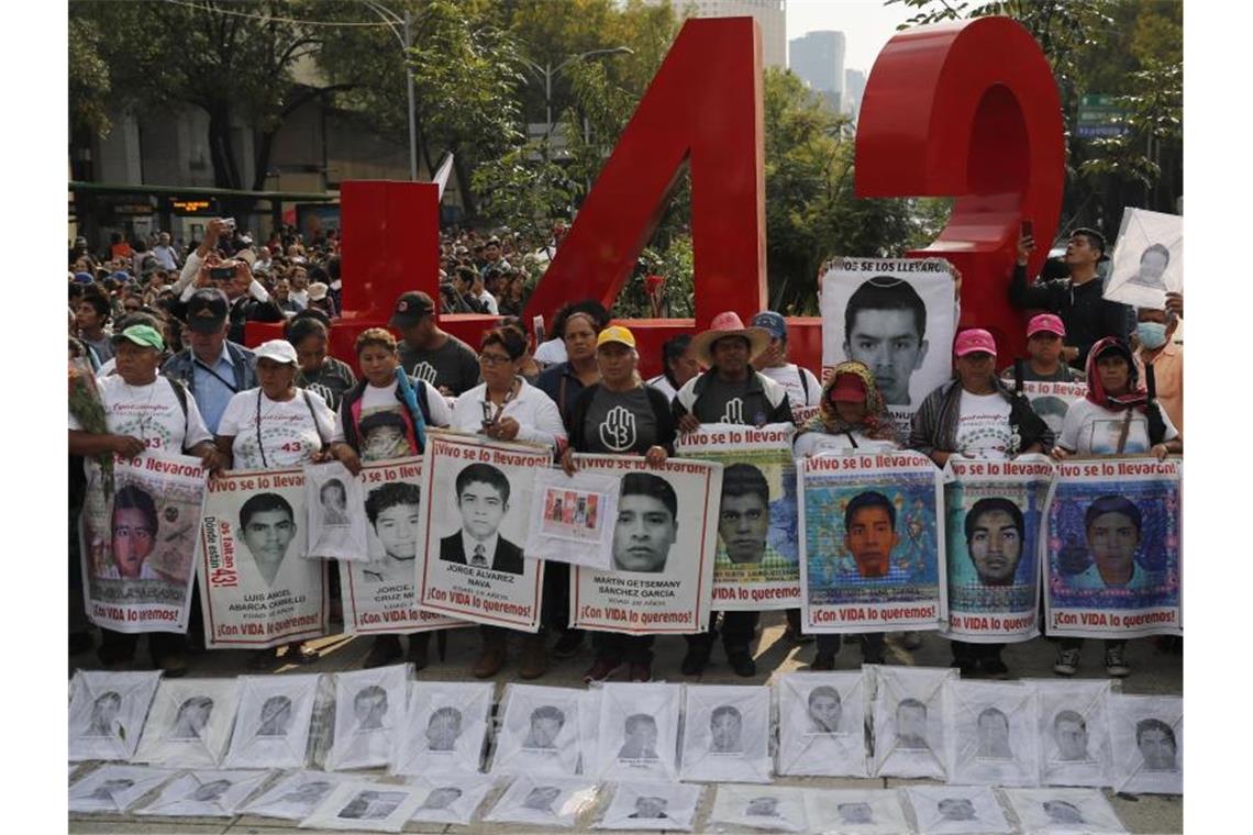
<svg viewBox="0 0 1253 835"><path fill-rule="evenodd" d="M70 759L169 767L383 767L398 776L771 782L928 777L1183 791L1183 700L1111 681L962 681L951 669L787 674L773 686L412 681L83 672Z"/></svg>

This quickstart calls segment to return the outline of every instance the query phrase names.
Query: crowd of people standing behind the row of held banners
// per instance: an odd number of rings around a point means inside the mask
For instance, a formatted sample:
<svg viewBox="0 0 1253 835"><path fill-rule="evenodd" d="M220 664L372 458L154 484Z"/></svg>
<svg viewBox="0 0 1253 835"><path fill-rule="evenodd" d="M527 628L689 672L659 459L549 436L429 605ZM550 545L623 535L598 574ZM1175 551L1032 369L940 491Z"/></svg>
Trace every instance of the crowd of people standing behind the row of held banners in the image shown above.
<svg viewBox="0 0 1253 835"><path fill-rule="evenodd" d="M1086 383L1086 399L1068 412L1060 431L1051 429L1006 382L1015 377L1014 363L997 351L987 330L975 327L957 334L954 376L925 398L907 437L885 404L882 381L891 377L890 357L882 359L883 367L873 358L845 362L819 382L814 369L789 362L787 320L772 310L758 312L747 325L737 313L725 312L703 333L668 341L659 357L664 371L648 381L638 372L634 334L611 324L610 312L595 300L574 302L556 312L551 339L536 346L535 334L517 317L531 282L523 260L534 262L535 253L544 250L523 247L507 235L446 237L440 299L416 290L400 295L388 323L400 338L382 328L362 332L356 341L360 377L327 349L341 293L333 234L306 247L288 230L256 245L229 222L213 219L202 240L187 252L165 233L152 245L119 243L113 242L100 262L88 253L85 240L70 250L70 361L89 368L107 419L96 432L70 419L71 542L86 488L83 459L101 453L133 456L142 449L194 454L214 473L332 458L356 472L362 462L419 454L426 428L446 427L496 441L545 444L554 462L573 472L573 453L635 454L655 466L674 454L679 433L702 423L792 423L794 408L814 407L816 413L798 426L797 456L833 448L911 448L942 467L954 454L1005 458L1035 452L1061 459L1152 453L1162 458L1183 451L1182 346L1173 341L1183 315L1182 295L1170 294L1162 309L1134 314L1104 299L1096 264L1105 258L1106 244L1091 229L1076 229L1069 237L1066 278L1046 282L1026 280L1034 242L1024 238L1009 284L1012 304L1044 310L1027 324L1029 357L1019 376ZM485 329L477 346L470 346L439 327L441 309L502 318ZM286 338L248 349L242 344L248 320L286 323ZM1153 398L1144 384L1149 369L1155 379ZM135 403L147 407L147 428L119 417ZM629 437L610 426L614 416L624 414L633 421ZM1125 423L1114 448L1094 442L1090 427L1099 418ZM724 505L728 496L737 499L754 491L752 483L737 484L728 474ZM480 501L476 486L481 484L459 484L457 502ZM505 491L507 498L507 484ZM638 502L632 501L637 497ZM660 508L652 515L657 517L669 508L668 523L674 523L673 491L667 496L643 474L638 483L624 486L619 523L632 513L640 516L626 518L628 528L638 527L630 535L638 538L638 548L628 550L624 558L648 560L650 538L664 536L667 521L645 523L640 510L645 505ZM743 507L749 505L746 498ZM865 508L866 513L877 510ZM728 512L724 507L723 516ZM737 513L728 525L751 523L747 511ZM138 533L144 530L142 516L137 508L133 527ZM872 536L867 528L865 537ZM866 552L875 547L867 538ZM464 561L472 557L492 565L510 555L499 550L462 555ZM70 577L80 583L74 547L70 560ZM550 660L580 651L585 636L566 626L569 582L566 565L549 565L544 628L523 636L523 679L538 679ZM71 651L83 651L95 641L86 627L80 585L71 591L76 595ZM203 628L195 610L189 627L193 637ZM730 667L741 676L754 675L751 642L758 615L715 612L707 631L687 637L682 672L699 675L705 669L720 631ZM787 635L796 641L811 637L801 631L798 611L788 612ZM366 665L405 656L421 669L427 663L429 636L410 636L407 652L400 636L377 636ZM135 643L135 636L104 630L100 661L110 667L132 663ZM812 669L833 669L840 643L838 636L821 636ZM188 636L154 633L149 645L153 663L167 675L185 670ZM481 645L470 670L477 677L495 676L507 663L507 631L481 627ZM591 645L595 660L586 681L603 681L620 670L632 681L652 680L652 636L595 632ZM861 646L866 661L883 660L882 633L861 636ZM964 675L1004 677L1009 670L1001 650L995 643L954 641L952 665ZM1063 642L1054 670L1074 675L1080 651L1081 641ZM299 643L283 652L297 662L316 657ZM254 661L264 665L272 657L272 651L259 651ZM1113 676L1130 672L1121 642L1106 642L1105 667Z"/></svg>

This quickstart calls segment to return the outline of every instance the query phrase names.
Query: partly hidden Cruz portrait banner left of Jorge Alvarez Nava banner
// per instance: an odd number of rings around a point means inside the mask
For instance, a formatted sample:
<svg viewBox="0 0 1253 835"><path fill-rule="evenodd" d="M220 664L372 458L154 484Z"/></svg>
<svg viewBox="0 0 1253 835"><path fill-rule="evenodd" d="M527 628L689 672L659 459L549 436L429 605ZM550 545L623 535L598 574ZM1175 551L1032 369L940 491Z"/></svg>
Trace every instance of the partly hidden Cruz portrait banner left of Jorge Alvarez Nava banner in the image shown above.
<svg viewBox="0 0 1253 835"><path fill-rule="evenodd" d="M366 561L340 562L340 597L347 635L406 635L469 626L417 607L419 527L422 518L422 459L362 464Z"/></svg>

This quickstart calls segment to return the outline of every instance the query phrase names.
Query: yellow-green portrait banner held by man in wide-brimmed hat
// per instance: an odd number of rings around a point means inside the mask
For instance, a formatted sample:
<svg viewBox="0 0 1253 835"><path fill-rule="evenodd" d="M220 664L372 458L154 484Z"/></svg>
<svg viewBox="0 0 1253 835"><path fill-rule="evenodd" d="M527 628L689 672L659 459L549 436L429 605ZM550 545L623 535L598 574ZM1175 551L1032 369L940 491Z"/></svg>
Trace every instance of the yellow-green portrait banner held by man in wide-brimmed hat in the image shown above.
<svg viewBox="0 0 1253 835"><path fill-rule="evenodd" d="M723 466L713 567L714 607L722 611L794 608L801 602L797 557L796 462L791 423L762 427L703 423L674 452Z"/></svg>

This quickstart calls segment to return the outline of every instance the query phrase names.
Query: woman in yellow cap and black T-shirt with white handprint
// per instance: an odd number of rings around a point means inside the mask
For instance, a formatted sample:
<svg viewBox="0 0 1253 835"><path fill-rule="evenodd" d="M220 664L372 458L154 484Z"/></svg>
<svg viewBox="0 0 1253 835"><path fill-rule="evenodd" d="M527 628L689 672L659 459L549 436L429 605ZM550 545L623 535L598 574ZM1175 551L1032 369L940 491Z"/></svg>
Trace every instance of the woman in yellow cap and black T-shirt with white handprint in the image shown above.
<svg viewBox="0 0 1253 835"><path fill-rule="evenodd" d="M674 452L674 419L665 394L645 386L637 372L639 354L635 336L610 325L596 337L596 366L600 382L580 392L570 419L570 446L561 456L561 468L573 476L574 453L644 456L660 466ZM623 663L630 681L653 680L653 636L594 632L591 647L596 661L583 674L588 684L605 681Z"/></svg>

